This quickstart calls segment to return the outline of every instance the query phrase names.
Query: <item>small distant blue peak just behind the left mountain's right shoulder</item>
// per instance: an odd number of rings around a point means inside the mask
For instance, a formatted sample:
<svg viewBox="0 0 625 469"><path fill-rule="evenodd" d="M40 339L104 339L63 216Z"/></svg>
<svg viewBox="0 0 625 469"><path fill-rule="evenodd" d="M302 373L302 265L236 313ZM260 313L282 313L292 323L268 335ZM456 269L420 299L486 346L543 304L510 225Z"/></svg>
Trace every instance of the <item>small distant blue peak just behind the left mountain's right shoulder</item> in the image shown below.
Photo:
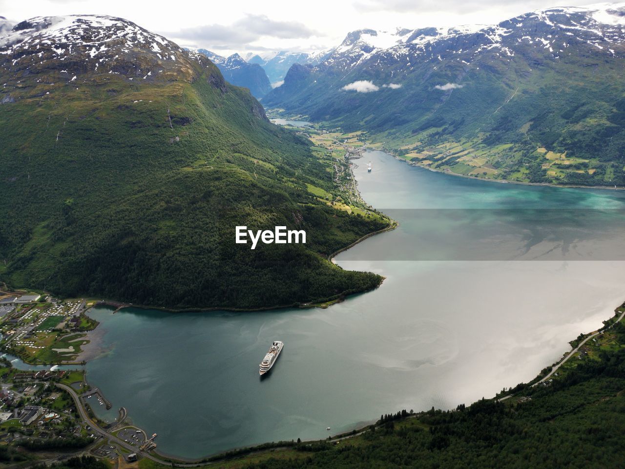
<svg viewBox="0 0 625 469"><path fill-rule="evenodd" d="M255 98L262 98L271 91L269 78L259 64L249 64L239 54L222 57L206 49L197 49L211 59L228 83L248 88Z"/></svg>

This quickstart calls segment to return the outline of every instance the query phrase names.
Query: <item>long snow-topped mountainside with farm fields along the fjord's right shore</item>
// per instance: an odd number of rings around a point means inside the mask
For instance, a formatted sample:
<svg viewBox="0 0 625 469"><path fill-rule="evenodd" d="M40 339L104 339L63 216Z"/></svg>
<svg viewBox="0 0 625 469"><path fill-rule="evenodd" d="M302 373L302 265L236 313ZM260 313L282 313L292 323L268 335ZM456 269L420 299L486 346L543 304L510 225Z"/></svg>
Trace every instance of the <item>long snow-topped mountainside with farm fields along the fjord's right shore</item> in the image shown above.
<svg viewBox="0 0 625 469"><path fill-rule="evenodd" d="M477 31L409 31L386 49L360 46L293 66L263 103L364 129L430 168L622 185L624 25L625 4L601 4L534 11Z"/></svg>

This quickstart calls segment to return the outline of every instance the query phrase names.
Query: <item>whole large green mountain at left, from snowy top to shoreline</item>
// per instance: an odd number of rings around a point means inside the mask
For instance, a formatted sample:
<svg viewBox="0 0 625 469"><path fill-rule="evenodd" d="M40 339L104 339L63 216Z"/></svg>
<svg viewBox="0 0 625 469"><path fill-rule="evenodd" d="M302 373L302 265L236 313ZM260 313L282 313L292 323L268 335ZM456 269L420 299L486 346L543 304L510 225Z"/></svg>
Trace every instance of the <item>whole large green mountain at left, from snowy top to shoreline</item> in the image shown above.
<svg viewBox="0 0 625 469"><path fill-rule="evenodd" d="M381 281L324 256L387 222L314 197L334 186L309 141L201 54L119 18L34 18L0 38L0 78L0 281L179 308ZM252 251L238 225L307 243Z"/></svg>

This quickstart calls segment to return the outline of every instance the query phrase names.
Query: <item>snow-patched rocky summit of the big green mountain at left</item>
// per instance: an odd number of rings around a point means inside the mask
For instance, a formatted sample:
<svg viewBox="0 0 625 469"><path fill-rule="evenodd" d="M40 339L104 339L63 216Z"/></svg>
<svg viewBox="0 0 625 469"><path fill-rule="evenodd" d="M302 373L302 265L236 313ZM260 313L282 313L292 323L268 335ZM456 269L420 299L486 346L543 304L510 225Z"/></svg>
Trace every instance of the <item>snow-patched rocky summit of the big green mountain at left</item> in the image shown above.
<svg viewBox="0 0 625 469"><path fill-rule="evenodd" d="M17 79L54 69L71 80L110 73L147 81L191 81L198 60L163 36L112 16L37 17L0 36L0 67Z"/></svg>

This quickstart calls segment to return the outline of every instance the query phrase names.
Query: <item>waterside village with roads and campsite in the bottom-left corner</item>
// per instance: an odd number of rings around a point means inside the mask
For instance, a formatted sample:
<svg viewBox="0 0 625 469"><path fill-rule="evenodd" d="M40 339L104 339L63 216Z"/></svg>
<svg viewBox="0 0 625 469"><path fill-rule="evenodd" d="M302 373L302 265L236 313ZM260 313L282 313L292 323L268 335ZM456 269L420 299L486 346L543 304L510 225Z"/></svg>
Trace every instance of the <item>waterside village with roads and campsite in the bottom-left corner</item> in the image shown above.
<svg viewBox="0 0 625 469"><path fill-rule="evenodd" d="M37 293L0 294L0 464L86 450L126 467L138 460L137 452L156 448L156 435L130 425L126 409L120 408L111 423L93 411L112 407L86 381L81 358L98 326L86 314L95 304Z"/></svg>

